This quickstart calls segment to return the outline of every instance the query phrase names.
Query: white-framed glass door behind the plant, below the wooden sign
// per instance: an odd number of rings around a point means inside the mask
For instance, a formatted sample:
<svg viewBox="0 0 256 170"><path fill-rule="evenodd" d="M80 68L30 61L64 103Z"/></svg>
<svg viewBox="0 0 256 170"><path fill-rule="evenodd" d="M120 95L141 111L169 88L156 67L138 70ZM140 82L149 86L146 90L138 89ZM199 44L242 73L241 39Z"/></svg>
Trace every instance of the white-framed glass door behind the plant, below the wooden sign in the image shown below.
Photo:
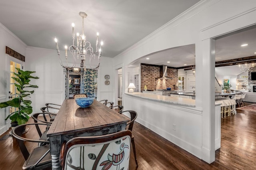
<svg viewBox="0 0 256 170"><path fill-rule="evenodd" d="M14 85L14 83L16 83L14 81L14 79L12 79L11 77L15 77L15 75L13 73L17 73L18 71L15 68L19 68L19 69L23 69L22 64L24 63L23 61L20 61L10 55L6 54L6 85L7 85L7 91L6 91L6 100L12 100L13 97L17 97L18 95L16 95L16 93L18 93L16 86ZM7 115L9 115L10 113L16 111L17 108L14 107L7 107L6 108L6 117ZM6 121L6 130L9 129L11 121L10 119L8 119Z"/></svg>

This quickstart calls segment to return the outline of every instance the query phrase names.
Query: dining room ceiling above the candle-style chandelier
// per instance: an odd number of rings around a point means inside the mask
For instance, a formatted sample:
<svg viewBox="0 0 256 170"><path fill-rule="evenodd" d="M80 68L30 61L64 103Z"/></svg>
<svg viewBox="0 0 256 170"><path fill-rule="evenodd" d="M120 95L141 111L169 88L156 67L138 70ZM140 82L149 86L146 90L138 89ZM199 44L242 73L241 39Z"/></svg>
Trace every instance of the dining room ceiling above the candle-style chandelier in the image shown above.
<svg viewBox="0 0 256 170"><path fill-rule="evenodd" d="M104 41L102 56L115 57L200 0L2 0L0 23L26 45L60 50L72 45L72 27L86 40Z"/></svg>

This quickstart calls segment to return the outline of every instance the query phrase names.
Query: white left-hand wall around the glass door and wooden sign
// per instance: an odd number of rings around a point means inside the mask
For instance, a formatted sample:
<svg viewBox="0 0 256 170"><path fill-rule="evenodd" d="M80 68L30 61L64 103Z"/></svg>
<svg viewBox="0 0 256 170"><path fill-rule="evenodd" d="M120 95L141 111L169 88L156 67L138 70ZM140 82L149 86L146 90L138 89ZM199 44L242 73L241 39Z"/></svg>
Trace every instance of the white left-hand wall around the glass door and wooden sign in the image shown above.
<svg viewBox="0 0 256 170"><path fill-rule="evenodd" d="M5 53L6 46L26 56L26 44L0 23L0 102L8 100L8 96L6 96L9 91L9 87L6 87L6 75L8 74L6 72L6 64L10 63L6 63L6 59L7 57L14 58ZM8 130L10 127L10 125L6 126L5 118L6 108L0 109L0 134Z"/></svg>

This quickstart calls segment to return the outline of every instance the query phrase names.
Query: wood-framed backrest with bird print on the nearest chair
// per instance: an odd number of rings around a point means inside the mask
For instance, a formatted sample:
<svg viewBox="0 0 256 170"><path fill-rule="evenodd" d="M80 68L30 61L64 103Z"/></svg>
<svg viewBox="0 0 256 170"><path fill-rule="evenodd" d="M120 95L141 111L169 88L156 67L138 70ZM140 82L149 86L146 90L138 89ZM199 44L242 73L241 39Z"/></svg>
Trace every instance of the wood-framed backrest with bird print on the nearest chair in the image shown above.
<svg viewBox="0 0 256 170"><path fill-rule="evenodd" d="M62 170L129 169L132 132L76 137L63 143L60 150Z"/></svg>

